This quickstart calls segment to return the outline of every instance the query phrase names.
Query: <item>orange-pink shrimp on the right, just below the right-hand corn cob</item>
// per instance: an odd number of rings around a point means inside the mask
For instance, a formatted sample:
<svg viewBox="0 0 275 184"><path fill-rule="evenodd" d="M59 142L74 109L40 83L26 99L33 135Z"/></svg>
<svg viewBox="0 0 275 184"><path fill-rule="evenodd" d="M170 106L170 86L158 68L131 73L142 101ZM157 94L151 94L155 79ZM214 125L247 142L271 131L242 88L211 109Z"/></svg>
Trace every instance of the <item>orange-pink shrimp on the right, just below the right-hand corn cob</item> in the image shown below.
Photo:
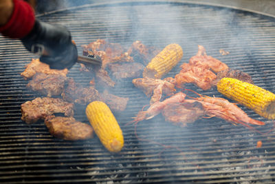
<svg viewBox="0 0 275 184"><path fill-rule="evenodd" d="M265 125L262 121L250 118L235 103L230 103L226 99L201 96L197 98L197 101L201 102L209 116L217 116L232 123Z"/></svg>

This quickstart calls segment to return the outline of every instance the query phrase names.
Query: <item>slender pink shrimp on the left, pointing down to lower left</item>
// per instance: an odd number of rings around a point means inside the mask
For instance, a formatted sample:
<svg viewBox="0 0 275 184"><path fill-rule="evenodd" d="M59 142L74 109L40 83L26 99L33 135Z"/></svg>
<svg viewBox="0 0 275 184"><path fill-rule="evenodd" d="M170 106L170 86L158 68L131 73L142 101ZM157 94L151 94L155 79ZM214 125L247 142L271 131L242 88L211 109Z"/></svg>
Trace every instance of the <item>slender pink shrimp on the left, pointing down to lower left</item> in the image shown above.
<svg viewBox="0 0 275 184"><path fill-rule="evenodd" d="M186 97L186 94L183 92L178 92L177 94L170 96L170 98L165 99L164 101L157 101L153 103L150 108L146 111L140 111L137 113L137 116L135 116L133 122L137 123L139 121L142 121L144 119L152 119L154 116L162 112L164 107L171 103L181 103L184 101Z"/></svg>

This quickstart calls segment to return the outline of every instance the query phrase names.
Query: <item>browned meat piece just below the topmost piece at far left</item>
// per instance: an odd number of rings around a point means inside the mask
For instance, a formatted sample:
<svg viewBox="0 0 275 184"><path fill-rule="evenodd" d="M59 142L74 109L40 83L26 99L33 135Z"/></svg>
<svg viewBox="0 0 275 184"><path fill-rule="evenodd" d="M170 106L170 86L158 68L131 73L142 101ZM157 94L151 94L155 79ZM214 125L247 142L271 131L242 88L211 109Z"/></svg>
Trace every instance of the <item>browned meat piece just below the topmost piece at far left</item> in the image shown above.
<svg viewBox="0 0 275 184"><path fill-rule="evenodd" d="M48 97L58 96L64 90L65 81L67 77L59 74L36 73L27 88Z"/></svg>

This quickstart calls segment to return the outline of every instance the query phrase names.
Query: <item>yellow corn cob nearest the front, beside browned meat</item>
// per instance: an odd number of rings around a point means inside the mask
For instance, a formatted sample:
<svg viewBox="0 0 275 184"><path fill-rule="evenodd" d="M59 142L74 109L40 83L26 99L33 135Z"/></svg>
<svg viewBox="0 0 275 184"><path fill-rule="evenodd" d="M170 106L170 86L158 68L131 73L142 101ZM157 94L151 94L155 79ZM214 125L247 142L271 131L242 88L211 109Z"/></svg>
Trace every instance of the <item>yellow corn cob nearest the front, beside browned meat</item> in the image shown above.
<svg viewBox="0 0 275 184"><path fill-rule="evenodd" d="M93 101L87 105L86 115L104 147L120 152L124 145L122 130L109 107L102 101Z"/></svg>

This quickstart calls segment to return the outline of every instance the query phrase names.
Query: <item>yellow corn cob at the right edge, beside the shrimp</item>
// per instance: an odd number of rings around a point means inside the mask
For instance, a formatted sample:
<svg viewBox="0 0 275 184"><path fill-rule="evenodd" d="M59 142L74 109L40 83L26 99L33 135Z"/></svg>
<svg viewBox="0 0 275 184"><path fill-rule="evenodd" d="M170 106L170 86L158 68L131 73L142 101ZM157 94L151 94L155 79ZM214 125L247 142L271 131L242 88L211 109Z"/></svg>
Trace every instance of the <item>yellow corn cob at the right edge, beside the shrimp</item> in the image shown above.
<svg viewBox="0 0 275 184"><path fill-rule="evenodd" d="M221 94L254 110L266 119L275 119L275 94L251 83L223 78L217 83Z"/></svg>

